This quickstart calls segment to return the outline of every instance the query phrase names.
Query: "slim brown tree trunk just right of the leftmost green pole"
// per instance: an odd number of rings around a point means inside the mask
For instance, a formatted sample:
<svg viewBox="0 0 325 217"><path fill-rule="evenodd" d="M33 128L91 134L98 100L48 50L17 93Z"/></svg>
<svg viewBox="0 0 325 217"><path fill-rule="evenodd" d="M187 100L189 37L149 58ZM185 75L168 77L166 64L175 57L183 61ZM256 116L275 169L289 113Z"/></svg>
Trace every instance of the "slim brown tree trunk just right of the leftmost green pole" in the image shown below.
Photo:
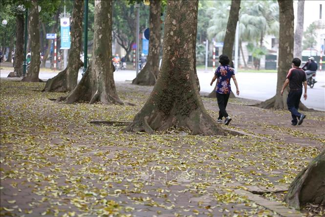
<svg viewBox="0 0 325 217"><path fill-rule="evenodd" d="M32 8L29 14L30 37L31 37L31 61L29 72L22 78L22 81L39 82L39 73L41 65L40 56L40 19L37 0L32 1Z"/></svg>

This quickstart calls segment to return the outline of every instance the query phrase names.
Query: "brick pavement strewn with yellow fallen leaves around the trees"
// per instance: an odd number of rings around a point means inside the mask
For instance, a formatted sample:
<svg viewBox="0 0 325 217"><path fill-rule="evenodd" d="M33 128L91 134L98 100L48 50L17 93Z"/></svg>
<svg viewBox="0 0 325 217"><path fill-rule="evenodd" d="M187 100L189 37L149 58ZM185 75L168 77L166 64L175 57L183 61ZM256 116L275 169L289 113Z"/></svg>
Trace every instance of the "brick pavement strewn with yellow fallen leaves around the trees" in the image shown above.
<svg viewBox="0 0 325 217"><path fill-rule="evenodd" d="M222 127L244 136L125 133L90 121L132 121L152 87L116 84L136 106L67 105L44 83L0 82L0 216L274 216L235 190L290 183L325 141L324 112L292 128L277 125L285 112L231 99ZM216 100L203 101L216 119Z"/></svg>

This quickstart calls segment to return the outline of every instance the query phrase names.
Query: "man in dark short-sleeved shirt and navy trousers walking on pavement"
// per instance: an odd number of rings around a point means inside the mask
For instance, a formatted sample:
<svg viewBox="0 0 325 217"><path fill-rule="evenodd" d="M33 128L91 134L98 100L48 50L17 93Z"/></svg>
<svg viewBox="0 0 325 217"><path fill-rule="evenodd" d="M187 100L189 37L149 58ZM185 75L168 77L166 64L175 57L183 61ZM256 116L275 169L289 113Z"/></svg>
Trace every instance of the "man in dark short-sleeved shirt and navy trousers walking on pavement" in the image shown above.
<svg viewBox="0 0 325 217"><path fill-rule="evenodd" d="M292 60L292 68L289 70L286 79L284 81L281 95L283 95L284 89L289 84L289 94L287 98L288 110L291 112L292 125L300 125L303 123L303 119L306 117L304 114L298 112L300 98L303 94L304 86L304 100L307 99L307 82L305 72L299 68L301 60L299 58L294 58Z"/></svg>

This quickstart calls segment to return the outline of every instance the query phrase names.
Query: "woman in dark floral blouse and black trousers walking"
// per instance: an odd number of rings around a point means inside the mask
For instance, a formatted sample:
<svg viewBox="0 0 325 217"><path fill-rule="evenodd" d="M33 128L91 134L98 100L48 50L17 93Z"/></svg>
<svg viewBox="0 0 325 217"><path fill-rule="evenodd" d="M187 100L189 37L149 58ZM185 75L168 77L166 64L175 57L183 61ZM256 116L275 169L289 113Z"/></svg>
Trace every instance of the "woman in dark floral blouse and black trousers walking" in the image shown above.
<svg viewBox="0 0 325 217"><path fill-rule="evenodd" d="M210 85L212 86L213 82L217 79L217 102L219 107L219 117L218 117L218 123L222 122L222 118L225 117L224 123L228 125L230 121L232 120L227 111L227 103L229 99L229 95L231 93L231 86L230 86L230 79L233 78L234 83L236 85L236 93L237 96L239 95L239 88L237 84L237 80L235 77L235 70L234 68L231 68L229 66L229 58L226 55L220 55L219 56L219 63L220 66L217 68L215 72L215 76L212 78L212 81Z"/></svg>

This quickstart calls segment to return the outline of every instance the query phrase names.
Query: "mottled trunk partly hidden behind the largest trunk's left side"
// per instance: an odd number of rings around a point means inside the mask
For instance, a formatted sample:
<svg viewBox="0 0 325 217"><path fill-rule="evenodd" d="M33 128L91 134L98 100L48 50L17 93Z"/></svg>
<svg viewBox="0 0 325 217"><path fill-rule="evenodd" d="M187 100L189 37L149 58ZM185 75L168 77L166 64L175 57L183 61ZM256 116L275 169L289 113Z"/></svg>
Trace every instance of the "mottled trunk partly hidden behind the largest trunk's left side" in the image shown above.
<svg viewBox="0 0 325 217"><path fill-rule="evenodd" d="M157 0L150 1L150 39L149 55L146 66L134 78L132 84L154 85L159 73L159 52L160 52L160 13L161 3Z"/></svg>

